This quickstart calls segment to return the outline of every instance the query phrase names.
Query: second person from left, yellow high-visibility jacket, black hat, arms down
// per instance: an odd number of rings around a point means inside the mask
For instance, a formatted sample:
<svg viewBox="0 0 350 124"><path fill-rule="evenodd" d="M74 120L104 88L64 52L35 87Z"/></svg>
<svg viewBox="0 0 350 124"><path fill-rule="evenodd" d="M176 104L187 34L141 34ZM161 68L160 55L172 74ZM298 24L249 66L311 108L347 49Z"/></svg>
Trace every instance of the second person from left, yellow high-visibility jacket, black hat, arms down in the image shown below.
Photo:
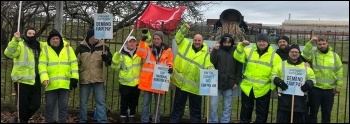
<svg viewBox="0 0 350 124"><path fill-rule="evenodd" d="M58 122L67 123L69 89L77 87L78 62L72 47L64 45L61 34L53 29L39 57L39 73L45 86L45 122L54 123L58 101Z"/></svg>

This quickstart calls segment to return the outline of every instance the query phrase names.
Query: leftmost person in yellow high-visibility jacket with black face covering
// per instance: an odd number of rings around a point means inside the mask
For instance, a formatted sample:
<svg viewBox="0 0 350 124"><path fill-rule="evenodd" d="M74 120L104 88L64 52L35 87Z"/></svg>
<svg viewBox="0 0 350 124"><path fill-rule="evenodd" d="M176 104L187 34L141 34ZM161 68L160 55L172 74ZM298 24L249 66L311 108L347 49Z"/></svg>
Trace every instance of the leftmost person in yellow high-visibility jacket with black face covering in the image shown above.
<svg viewBox="0 0 350 124"><path fill-rule="evenodd" d="M36 40L35 33L34 28L28 28L23 39L20 32L14 33L14 37L4 51L7 57L13 59L11 78L18 97L20 123L28 123L41 104L41 83L38 72L41 44ZM17 117L12 121L16 122Z"/></svg>

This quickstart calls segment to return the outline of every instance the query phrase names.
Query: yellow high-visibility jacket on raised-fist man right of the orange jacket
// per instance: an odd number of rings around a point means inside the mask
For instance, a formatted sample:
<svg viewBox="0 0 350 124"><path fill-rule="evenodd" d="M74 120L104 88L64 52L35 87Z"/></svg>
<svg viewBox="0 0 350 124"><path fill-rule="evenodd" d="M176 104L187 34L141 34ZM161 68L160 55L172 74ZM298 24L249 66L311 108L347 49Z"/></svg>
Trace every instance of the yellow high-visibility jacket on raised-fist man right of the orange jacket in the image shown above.
<svg viewBox="0 0 350 124"><path fill-rule="evenodd" d="M199 95L200 69L214 66L210 62L208 46L203 43L203 48L196 53L192 49L193 44L185 38L186 32L188 29L182 25L175 36L178 52L171 82L183 91Z"/></svg>

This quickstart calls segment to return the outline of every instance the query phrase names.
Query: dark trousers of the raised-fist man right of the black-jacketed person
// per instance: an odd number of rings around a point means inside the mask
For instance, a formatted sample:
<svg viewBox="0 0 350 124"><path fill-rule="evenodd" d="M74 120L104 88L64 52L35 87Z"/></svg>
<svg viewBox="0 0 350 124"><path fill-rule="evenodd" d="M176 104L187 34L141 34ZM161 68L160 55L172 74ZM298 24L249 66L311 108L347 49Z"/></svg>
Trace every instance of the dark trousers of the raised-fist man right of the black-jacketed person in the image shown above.
<svg viewBox="0 0 350 124"><path fill-rule="evenodd" d="M256 101L256 119L255 123L266 123L267 116L269 113L269 106L270 106L270 94L271 91L269 91L267 94L265 94L262 97L255 98L253 88L250 91L249 96L247 96L243 91L241 92L242 97L242 107L241 107L241 116L240 116L240 122L241 123L250 123L252 120L252 112L254 108L254 101Z"/></svg>

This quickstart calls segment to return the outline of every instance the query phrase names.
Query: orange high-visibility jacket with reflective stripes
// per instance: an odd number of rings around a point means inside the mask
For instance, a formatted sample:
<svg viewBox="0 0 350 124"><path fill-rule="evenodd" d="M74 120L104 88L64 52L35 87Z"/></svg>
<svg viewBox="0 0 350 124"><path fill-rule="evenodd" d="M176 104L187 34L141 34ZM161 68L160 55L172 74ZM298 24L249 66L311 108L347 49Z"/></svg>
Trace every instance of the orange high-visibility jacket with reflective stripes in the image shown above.
<svg viewBox="0 0 350 124"><path fill-rule="evenodd" d="M160 53L161 56L159 62L156 63L156 57L152 53L152 48L146 45L144 41L140 41L139 48L136 51L136 54L140 56L143 61L140 82L138 86L139 89L154 93L165 94L165 91L152 89L152 78L155 65L163 64L173 68L173 52L171 48L166 46L165 44L162 44L162 46L164 46L164 49L162 53Z"/></svg>

